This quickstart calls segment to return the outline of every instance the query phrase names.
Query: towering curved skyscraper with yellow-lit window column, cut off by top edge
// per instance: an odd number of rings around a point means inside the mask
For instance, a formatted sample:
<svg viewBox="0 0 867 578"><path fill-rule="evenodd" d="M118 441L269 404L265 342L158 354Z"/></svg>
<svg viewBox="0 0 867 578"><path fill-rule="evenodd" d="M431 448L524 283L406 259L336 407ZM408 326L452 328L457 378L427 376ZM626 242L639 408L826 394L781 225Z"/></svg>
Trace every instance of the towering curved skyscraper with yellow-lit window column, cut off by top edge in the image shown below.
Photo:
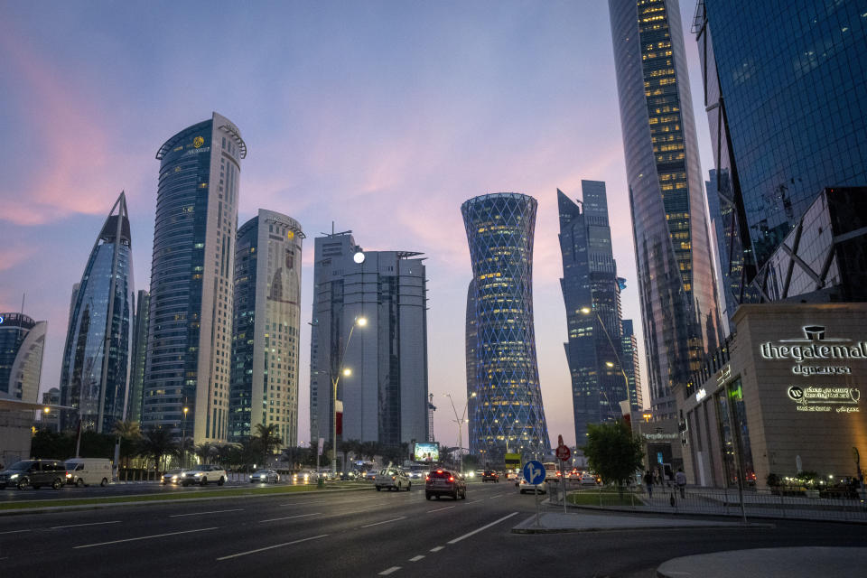
<svg viewBox="0 0 867 578"><path fill-rule="evenodd" d="M650 405L719 342L713 265L684 37L675 0L609 0Z"/></svg>

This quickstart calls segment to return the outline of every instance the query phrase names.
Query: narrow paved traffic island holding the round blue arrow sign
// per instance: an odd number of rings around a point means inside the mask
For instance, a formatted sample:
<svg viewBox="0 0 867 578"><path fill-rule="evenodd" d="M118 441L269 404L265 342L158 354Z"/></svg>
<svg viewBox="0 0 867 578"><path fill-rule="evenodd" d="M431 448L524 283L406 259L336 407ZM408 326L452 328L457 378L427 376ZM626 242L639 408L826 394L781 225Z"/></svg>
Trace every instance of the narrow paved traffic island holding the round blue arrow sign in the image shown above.
<svg viewBox="0 0 867 578"><path fill-rule="evenodd" d="M751 527L774 527L772 524L750 524ZM563 532L604 532L611 530L669 529L684 527L743 527L740 522L695 520L683 517L618 516L543 512L536 526L536 515L512 528L515 534L557 534Z"/></svg>

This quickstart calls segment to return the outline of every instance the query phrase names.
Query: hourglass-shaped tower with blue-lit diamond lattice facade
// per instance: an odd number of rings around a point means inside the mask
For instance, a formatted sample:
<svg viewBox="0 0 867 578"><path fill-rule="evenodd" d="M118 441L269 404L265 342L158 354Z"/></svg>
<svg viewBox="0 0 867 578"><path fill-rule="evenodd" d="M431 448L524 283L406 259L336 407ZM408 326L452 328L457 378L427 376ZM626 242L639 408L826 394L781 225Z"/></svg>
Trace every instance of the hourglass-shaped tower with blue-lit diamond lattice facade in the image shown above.
<svg viewBox="0 0 867 578"><path fill-rule="evenodd" d="M536 204L527 195L499 192L461 205L473 274L467 335L474 324L476 340L476 358L467 360L474 369L467 379L470 451L482 461L502 461L507 449L527 455L551 447L533 329Z"/></svg>

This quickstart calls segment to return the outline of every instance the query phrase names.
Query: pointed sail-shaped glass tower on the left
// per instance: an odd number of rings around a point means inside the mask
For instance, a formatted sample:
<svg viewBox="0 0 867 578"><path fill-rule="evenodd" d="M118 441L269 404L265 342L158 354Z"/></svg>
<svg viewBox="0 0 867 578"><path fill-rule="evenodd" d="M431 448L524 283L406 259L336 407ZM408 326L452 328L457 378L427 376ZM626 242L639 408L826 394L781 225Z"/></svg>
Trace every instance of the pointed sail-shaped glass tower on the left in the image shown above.
<svg viewBox="0 0 867 578"><path fill-rule="evenodd" d="M64 426L110 432L124 418L129 381L135 295L133 257L120 193L75 290L61 367L61 404L78 412L64 415Z"/></svg>

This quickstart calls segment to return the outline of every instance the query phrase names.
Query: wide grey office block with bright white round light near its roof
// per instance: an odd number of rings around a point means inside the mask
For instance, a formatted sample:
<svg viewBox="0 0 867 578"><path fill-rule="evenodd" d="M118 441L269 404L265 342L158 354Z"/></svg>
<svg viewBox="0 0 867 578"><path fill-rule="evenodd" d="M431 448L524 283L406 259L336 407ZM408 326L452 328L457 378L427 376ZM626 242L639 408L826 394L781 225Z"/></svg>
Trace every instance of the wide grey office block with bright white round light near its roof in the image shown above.
<svg viewBox="0 0 867 578"><path fill-rule="evenodd" d="M314 240L312 443L332 440L340 406L338 440L389 447L422 442L428 437L424 259L408 251L363 251L350 233Z"/></svg>

